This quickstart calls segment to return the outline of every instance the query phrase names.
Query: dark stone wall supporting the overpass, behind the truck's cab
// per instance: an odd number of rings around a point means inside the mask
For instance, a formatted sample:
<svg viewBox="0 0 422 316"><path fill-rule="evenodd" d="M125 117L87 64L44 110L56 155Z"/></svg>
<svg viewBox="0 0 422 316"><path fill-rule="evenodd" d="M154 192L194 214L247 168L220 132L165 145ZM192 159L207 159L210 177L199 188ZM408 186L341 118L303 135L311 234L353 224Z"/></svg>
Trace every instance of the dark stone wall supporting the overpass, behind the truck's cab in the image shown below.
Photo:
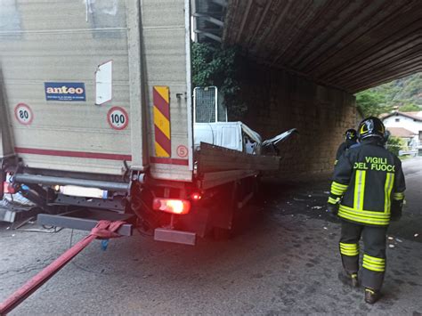
<svg viewBox="0 0 422 316"><path fill-rule="evenodd" d="M354 96L315 85L280 69L245 61L241 98L248 112L241 118L264 138L296 127L299 135L280 144L281 178L329 175L345 130L356 128L361 117ZM232 117L235 118L235 117Z"/></svg>

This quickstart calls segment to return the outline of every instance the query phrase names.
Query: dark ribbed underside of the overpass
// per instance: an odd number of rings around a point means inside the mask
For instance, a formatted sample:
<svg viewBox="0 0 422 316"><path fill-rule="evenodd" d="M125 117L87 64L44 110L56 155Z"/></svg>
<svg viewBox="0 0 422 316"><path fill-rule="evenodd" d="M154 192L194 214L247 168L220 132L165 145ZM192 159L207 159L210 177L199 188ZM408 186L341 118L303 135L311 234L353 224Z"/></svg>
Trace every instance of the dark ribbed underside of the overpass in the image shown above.
<svg viewBox="0 0 422 316"><path fill-rule="evenodd" d="M422 67L422 1L229 0L224 45L349 93Z"/></svg>

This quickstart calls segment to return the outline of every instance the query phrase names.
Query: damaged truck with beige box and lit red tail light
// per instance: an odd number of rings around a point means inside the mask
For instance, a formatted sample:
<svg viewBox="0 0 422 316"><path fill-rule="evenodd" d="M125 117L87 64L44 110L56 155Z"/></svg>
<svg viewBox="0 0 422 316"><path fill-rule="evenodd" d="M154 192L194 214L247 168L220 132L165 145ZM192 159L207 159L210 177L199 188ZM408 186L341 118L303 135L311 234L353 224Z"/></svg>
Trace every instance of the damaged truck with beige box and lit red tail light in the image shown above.
<svg viewBox="0 0 422 316"><path fill-rule="evenodd" d="M125 220L122 235L188 245L230 233L280 157L231 122L235 148L213 129L194 143L188 0L0 5L0 198L20 192L45 225Z"/></svg>

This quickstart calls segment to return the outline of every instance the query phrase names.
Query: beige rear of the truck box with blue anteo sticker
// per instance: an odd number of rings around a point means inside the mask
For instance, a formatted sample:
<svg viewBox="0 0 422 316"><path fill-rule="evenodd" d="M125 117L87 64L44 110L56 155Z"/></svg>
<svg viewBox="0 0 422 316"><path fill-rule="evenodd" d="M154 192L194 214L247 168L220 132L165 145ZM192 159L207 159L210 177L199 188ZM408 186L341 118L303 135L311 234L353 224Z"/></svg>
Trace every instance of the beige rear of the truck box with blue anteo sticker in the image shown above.
<svg viewBox="0 0 422 316"><path fill-rule="evenodd" d="M151 164L158 178L191 179L189 5L183 0L146 0L142 8L132 0L0 5L3 112L14 151L26 166L122 174L126 162L140 170ZM168 93L171 117L172 142L164 156L155 147L157 91Z"/></svg>

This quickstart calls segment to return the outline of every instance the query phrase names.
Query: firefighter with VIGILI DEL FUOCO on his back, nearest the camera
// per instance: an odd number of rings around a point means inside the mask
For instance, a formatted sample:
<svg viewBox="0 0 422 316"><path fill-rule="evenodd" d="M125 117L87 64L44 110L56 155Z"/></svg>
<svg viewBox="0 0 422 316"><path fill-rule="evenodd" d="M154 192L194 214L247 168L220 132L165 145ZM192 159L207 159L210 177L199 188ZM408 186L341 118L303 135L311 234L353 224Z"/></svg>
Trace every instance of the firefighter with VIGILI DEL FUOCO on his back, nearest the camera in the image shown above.
<svg viewBox="0 0 422 316"><path fill-rule="evenodd" d="M329 212L342 219L340 254L353 286L359 286L359 240L364 251L361 284L365 301L380 297L385 274L386 230L402 215L405 182L402 164L385 150L385 126L377 117L364 119L358 129L360 146L346 150L335 166Z"/></svg>

